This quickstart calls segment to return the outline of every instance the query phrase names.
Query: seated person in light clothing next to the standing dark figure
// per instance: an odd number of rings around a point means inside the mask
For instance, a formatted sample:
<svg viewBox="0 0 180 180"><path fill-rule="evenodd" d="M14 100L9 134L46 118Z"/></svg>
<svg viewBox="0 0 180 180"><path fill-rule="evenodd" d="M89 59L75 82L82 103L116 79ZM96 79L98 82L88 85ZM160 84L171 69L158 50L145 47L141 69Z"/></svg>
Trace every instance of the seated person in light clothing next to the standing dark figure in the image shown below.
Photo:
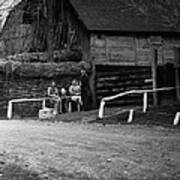
<svg viewBox="0 0 180 180"><path fill-rule="evenodd" d="M73 80L71 86L69 87L69 94L71 96L71 100L76 103L82 105L81 100L81 86L79 85L77 80Z"/></svg>

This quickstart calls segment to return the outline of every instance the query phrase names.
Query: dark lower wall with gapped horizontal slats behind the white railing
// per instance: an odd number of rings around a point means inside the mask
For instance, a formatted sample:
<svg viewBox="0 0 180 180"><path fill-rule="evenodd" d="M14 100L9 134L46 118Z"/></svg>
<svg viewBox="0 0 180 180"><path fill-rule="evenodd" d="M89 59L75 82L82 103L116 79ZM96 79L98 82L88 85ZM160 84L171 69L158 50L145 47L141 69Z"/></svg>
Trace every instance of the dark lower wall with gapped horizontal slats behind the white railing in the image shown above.
<svg viewBox="0 0 180 180"><path fill-rule="evenodd" d="M96 97L99 104L102 97L124 91L152 88L150 67L138 66L96 66ZM109 103L114 105L140 105L142 95L130 95Z"/></svg>

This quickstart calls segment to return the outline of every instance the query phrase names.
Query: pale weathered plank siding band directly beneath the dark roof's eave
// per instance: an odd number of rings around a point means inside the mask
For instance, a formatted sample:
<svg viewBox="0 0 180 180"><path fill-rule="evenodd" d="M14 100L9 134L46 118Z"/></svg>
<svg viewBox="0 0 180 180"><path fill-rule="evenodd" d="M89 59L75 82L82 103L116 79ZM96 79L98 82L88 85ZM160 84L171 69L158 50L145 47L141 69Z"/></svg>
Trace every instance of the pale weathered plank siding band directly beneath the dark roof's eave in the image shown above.
<svg viewBox="0 0 180 180"><path fill-rule="evenodd" d="M150 37L150 36L149 36ZM153 58L149 37L91 35L90 54L95 63L149 66ZM158 47L158 64L175 62L180 38L164 38Z"/></svg>

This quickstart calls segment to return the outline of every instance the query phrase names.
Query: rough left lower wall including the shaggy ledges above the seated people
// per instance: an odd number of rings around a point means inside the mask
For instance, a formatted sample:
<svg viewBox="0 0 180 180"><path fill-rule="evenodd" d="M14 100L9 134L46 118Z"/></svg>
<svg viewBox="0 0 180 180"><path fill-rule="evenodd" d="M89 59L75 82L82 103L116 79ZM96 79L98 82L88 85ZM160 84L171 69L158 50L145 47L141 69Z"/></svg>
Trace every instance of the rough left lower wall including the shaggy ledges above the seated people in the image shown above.
<svg viewBox="0 0 180 180"><path fill-rule="evenodd" d="M78 55L77 55L78 54ZM81 61L77 52L54 52L54 62L46 53L23 53L0 58L0 116L6 116L8 101L20 98L47 96L47 88L54 80L58 89L68 89L73 79L80 77L81 68L91 75L91 62ZM40 103L21 103L15 114L36 115Z"/></svg>

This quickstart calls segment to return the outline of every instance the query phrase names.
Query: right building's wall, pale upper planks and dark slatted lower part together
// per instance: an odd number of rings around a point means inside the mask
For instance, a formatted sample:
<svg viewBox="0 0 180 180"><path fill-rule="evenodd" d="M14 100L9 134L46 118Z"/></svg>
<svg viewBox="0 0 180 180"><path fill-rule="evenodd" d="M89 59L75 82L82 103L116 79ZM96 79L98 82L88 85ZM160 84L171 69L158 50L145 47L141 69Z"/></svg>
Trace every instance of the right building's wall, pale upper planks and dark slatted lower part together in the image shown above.
<svg viewBox="0 0 180 180"><path fill-rule="evenodd" d="M158 87L173 86L173 77L167 74L167 64L176 62L180 39L164 38L163 44L156 47L158 50ZM102 97L111 96L120 92L137 89L151 89L151 61L154 58L154 49L149 38L129 36L91 36L91 57L96 66L96 97L97 102ZM180 50L179 50L180 51ZM179 52L180 53L180 52ZM160 71L163 69L163 71ZM170 71L169 71L170 72ZM159 74L161 73L161 74ZM173 71L172 71L173 74ZM174 92L167 93L174 97ZM166 97L167 98L167 97ZM170 99L170 96L168 96ZM162 99L162 97L160 98ZM163 96L163 99L165 97ZM149 99L152 102L152 98ZM142 95L130 95L110 102L110 105L140 105Z"/></svg>

